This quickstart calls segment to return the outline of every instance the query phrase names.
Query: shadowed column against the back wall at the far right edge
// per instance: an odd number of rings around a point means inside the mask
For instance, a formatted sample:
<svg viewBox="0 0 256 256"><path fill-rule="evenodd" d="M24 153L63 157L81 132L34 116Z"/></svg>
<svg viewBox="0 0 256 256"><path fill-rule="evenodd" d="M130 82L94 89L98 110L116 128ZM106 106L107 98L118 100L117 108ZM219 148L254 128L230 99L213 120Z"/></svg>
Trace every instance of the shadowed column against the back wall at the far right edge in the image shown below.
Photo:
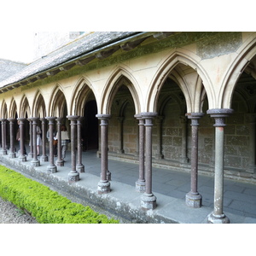
<svg viewBox="0 0 256 256"><path fill-rule="evenodd" d="M248 126L249 126L249 162L246 172L255 173L255 113L247 113Z"/></svg>

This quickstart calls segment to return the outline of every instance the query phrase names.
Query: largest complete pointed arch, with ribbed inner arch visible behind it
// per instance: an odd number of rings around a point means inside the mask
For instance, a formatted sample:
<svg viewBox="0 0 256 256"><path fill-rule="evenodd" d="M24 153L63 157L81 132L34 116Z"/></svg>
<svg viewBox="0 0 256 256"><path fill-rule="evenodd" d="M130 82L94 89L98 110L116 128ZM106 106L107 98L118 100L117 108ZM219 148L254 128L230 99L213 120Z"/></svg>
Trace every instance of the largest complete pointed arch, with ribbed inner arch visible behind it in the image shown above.
<svg viewBox="0 0 256 256"><path fill-rule="evenodd" d="M192 58L191 53L189 56L181 51L173 52L172 55L163 61L157 73L155 73L152 83L149 85L150 90L147 96L147 111L156 111L160 89L169 76L176 79L177 84L183 91L188 113L201 111L201 95L205 95L205 93L203 93L204 90L207 92L207 97L214 99L210 79L208 79L203 68L198 64L199 61L198 56ZM189 84L189 79L184 79L188 74L194 76L194 79L191 79L194 84Z"/></svg>

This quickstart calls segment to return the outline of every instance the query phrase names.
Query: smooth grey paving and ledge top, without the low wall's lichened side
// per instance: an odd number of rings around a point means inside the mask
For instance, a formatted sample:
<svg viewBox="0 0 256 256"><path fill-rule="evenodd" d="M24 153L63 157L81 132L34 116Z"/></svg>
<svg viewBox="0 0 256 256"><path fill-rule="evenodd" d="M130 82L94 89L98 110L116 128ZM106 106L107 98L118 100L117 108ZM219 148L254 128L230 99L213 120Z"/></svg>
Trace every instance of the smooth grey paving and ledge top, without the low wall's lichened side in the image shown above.
<svg viewBox="0 0 256 256"><path fill-rule="evenodd" d="M2 156L8 159L8 156ZM70 172L70 154L67 152L65 166L58 167L54 174L59 179L67 180ZM9 160L18 161L17 158ZM100 180L101 159L95 151L83 152L84 173L76 186L89 188L96 193ZM30 160L23 165L30 166ZM46 171L48 162L41 162L37 167L40 172ZM128 201L129 207L140 207L141 194L135 191L138 178L138 165L117 160L109 160L108 170L111 172L112 191L108 200ZM185 205L185 195L190 190L190 174L153 167L153 193L157 197L157 208L153 211L163 219L174 219L178 223L207 223L207 214L213 210L213 177L199 176L198 192L202 195L202 207L191 209ZM131 202L129 202L131 201ZM224 179L224 213L230 218L230 223L256 223L256 185ZM160 221L161 222L161 221ZM165 222L165 221L163 221Z"/></svg>

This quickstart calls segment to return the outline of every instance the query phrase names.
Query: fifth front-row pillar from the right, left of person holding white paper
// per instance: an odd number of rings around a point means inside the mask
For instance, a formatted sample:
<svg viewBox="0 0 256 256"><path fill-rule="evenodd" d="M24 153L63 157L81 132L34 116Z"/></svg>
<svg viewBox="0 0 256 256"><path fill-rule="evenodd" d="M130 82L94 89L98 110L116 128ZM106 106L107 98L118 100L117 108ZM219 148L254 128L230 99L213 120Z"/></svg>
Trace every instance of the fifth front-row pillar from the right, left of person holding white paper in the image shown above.
<svg viewBox="0 0 256 256"><path fill-rule="evenodd" d="M55 117L46 117L49 121L49 166L47 166L47 172L55 173L57 172L57 167L54 161L54 146L53 146L53 131L55 125Z"/></svg>

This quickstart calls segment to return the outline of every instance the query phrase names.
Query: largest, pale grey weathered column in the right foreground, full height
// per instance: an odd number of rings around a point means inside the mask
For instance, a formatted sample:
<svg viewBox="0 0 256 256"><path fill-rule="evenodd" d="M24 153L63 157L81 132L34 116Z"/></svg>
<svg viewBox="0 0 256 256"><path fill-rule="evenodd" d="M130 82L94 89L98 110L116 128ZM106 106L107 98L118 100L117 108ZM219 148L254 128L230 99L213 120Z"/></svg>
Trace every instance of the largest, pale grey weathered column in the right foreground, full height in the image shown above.
<svg viewBox="0 0 256 256"><path fill-rule="evenodd" d="M214 177L214 210L208 215L208 223L227 224L230 219L223 212L224 206L224 119L233 113L230 108L209 109L215 119L215 177Z"/></svg>

